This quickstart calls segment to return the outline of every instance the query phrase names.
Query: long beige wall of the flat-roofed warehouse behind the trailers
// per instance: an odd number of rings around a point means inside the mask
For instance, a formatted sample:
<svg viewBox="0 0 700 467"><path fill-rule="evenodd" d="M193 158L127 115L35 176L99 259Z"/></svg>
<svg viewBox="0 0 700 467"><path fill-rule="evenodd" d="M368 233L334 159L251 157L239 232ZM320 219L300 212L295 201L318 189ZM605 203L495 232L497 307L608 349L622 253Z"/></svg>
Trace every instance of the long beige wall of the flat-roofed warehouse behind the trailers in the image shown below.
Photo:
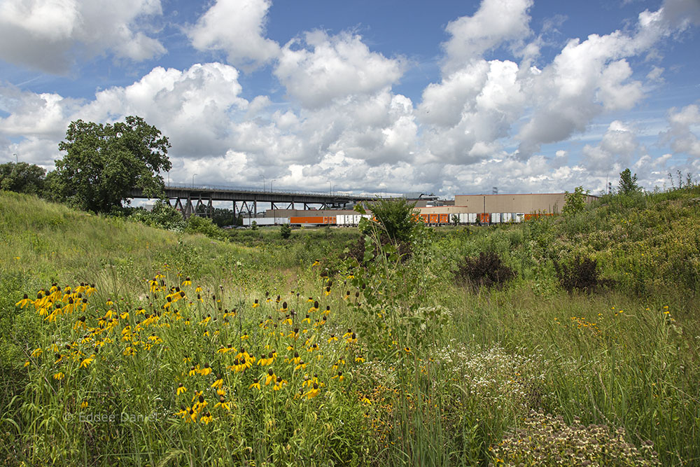
<svg viewBox="0 0 700 467"><path fill-rule="evenodd" d="M561 213L565 202L564 193L533 193L530 195L456 195L454 204L468 208L468 212L545 212ZM586 202L596 200L588 195Z"/></svg>

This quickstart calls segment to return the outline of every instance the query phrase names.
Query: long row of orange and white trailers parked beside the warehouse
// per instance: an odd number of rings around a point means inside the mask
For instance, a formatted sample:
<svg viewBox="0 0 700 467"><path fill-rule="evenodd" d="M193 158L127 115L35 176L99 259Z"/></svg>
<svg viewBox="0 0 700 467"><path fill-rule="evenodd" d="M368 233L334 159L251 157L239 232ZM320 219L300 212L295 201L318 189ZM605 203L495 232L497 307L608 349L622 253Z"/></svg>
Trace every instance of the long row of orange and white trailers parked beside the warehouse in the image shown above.
<svg viewBox="0 0 700 467"><path fill-rule="evenodd" d="M426 225L472 224L490 225L500 223L521 223L540 216L552 216L552 214L526 214L524 212L486 212L486 213L455 213L455 214L419 214L419 220ZM293 217L258 217L244 218L243 225L337 225L339 227L353 227L360 223L361 218L372 216L338 214L337 216L293 216Z"/></svg>

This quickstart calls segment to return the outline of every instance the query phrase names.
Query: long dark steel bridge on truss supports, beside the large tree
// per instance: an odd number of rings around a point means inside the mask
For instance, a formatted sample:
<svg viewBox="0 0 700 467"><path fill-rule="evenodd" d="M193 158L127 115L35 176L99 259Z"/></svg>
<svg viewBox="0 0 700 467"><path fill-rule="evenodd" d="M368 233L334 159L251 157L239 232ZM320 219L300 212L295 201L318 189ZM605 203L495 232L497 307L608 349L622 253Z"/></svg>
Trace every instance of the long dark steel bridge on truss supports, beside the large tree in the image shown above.
<svg viewBox="0 0 700 467"><path fill-rule="evenodd" d="M133 188L129 197L148 198L141 188ZM251 190L232 188L230 186L188 186L185 184L169 183L165 186L165 198L169 206L178 209L183 217L214 215L214 201L230 201L233 204L233 214L237 217L244 211L248 217L258 215L258 202L271 204L272 209L295 209L295 204L303 204L309 209L309 204L320 204L321 209L342 209L346 204L377 200L377 196L344 195L331 193L298 193L278 190ZM174 200L174 204L172 204ZM237 204L241 203L238 208ZM279 205L279 206L278 206Z"/></svg>

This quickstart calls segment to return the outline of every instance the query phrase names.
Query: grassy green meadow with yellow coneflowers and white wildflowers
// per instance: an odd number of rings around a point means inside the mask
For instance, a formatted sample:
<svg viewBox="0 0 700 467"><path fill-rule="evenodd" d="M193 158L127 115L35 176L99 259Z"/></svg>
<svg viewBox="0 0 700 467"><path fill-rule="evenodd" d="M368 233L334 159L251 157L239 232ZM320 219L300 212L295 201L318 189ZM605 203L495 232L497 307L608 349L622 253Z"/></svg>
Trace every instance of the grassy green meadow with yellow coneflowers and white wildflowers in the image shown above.
<svg viewBox="0 0 700 467"><path fill-rule="evenodd" d="M218 242L1 193L0 459L692 465L699 198L426 230L410 258L370 236L360 265L349 230ZM456 281L482 252L514 279ZM598 286L563 290L582 258Z"/></svg>

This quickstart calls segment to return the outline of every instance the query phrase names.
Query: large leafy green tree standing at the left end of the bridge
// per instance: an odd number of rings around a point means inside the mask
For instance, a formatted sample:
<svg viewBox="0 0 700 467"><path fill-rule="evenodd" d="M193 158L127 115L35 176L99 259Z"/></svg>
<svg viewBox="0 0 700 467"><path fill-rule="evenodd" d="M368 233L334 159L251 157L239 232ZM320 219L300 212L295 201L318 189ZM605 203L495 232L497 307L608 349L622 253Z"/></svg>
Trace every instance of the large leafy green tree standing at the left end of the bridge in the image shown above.
<svg viewBox="0 0 700 467"><path fill-rule="evenodd" d="M169 147L167 137L141 117L113 125L76 120L58 145L67 154L56 161L55 189L76 207L96 212L120 207L132 188L160 197L158 172L172 167Z"/></svg>

